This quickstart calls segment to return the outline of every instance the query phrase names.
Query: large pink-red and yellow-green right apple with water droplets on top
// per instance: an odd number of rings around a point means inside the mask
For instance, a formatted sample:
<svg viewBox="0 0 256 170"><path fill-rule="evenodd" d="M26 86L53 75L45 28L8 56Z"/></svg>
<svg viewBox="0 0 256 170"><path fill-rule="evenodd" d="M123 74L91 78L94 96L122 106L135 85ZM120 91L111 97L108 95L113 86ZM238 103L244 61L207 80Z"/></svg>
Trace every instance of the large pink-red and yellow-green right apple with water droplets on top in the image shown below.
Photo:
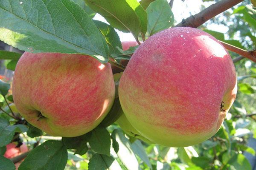
<svg viewBox="0 0 256 170"><path fill-rule="evenodd" d="M213 136L236 91L235 67L224 46L210 34L186 27L166 29L143 42L119 83L120 103L131 125L169 147Z"/></svg>

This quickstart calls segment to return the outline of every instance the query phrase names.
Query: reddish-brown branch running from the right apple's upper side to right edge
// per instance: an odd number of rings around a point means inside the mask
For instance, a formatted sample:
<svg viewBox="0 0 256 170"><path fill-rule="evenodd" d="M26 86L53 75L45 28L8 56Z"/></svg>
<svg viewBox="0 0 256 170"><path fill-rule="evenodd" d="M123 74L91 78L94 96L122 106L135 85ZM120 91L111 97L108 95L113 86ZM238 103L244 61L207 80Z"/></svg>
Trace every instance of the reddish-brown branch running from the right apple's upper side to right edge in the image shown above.
<svg viewBox="0 0 256 170"><path fill-rule="evenodd" d="M222 45L223 45L226 49L228 49L228 50L230 50L230 51L233 51L233 52L235 52L235 53L237 53L237 54L240 54L241 56L243 56L243 57L245 57L245 58L247 58L247 59L250 59L250 60L252 60L253 62L256 62L256 49L253 50L253 51L246 51L246 50L243 50L243 49L241 49L241 48L238 48L238 47L235 47L235 46L233 46L233 45L230 45L230 44L228 44L228 43L226 43L226 42L222 42L222 41L220 41L220 42L222 43Z"/></svg>

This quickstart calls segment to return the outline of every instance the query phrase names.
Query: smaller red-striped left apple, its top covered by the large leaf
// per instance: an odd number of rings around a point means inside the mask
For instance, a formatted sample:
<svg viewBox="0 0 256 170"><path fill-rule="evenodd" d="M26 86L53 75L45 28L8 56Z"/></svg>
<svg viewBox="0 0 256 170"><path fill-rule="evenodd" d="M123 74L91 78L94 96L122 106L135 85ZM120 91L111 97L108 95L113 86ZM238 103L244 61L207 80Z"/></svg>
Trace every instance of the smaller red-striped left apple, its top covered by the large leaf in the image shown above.
<svg viewBox="0 0 256 170"><path fill-rule="evenodd" d="M99 125L115 96L110 64L80 54L25 52L12 90L18 111L30 124L64 137L83 135Z"/></svg>

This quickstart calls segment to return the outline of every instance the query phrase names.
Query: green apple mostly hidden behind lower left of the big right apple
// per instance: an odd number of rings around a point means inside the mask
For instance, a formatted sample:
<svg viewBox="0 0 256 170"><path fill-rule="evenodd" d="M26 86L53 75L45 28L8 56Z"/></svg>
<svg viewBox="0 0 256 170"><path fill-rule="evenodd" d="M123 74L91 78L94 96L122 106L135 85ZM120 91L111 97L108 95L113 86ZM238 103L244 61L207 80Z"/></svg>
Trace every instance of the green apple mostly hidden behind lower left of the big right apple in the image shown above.
<svg viewBox="0 0 256 170"><path fill-rule="evenodd" d="M129 136L140 139L148 144L153 144L150 140L143 137L140 132L138 132L128 121L125 114L122 112L122 115L116 120L116 123L122 128L122 130Z"/></svg>

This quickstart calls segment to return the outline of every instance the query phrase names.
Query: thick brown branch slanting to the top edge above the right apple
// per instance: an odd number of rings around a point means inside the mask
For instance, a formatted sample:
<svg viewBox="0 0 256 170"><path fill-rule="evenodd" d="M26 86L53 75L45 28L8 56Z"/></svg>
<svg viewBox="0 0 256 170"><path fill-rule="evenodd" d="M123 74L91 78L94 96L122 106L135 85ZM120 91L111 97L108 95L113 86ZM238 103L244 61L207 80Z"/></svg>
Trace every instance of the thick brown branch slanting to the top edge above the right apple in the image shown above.
<svg viewBox="0 0 256 170"><path fill-rule="evenodd" d="M223 11L235 6L238 3L241 3L243 0L221 0L218 3L212 4L208 8L205 8L203 11L198 14L192 15L185 20L183 19L181 23L178 23L176 27L192 27L197 28L203 23L220 14Z"/></svg>

